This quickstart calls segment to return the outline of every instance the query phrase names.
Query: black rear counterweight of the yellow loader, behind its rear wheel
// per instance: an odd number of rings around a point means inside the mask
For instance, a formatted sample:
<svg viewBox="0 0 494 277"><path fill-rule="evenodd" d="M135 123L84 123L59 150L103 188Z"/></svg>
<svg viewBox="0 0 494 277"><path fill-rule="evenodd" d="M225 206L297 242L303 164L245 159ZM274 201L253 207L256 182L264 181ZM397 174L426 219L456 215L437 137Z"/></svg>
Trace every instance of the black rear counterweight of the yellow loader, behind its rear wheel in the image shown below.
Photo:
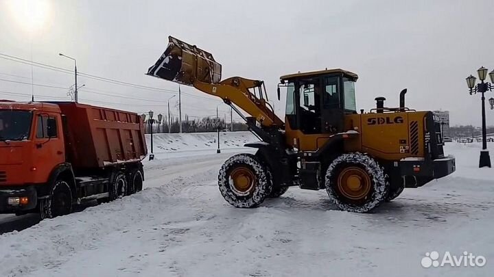
<svg viewBox="0 0 494 277"><path fill-rule="evenodd" d="M421 187L434 179L447 176L456 170L454 156L441 159L426 160L421 158L406 158L395 162L405 182L405 187Z"/></svg>

